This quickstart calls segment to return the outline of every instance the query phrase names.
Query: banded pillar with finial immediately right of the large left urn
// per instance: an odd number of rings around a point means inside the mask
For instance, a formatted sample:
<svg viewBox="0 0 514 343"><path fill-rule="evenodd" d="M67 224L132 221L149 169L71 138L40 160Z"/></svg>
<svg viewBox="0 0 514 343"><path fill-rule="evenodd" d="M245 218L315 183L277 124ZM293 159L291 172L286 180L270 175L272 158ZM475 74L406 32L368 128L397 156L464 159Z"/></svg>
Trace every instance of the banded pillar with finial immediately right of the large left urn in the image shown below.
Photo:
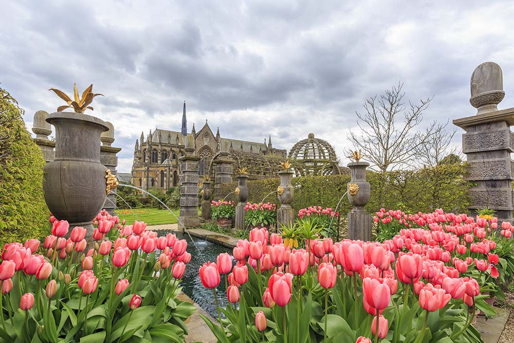
<svg viewBox="0 0 514 343"><path fill-rule="evenodd" d="M102 146L100 147L100 163L111 170L111 174L116 176L116 167L118 166L118 157L116 154L121 151L121 148L111 146L114 142L114 127L111 122L106 121L105 123L109 130L102 132L100 136L100 141L102 142ZM114 212L114 209L117 208L116 191L116 188L113 189L111 193L107 195L105 203L103 204L103 208L111 215L116 215Z"/></svg>

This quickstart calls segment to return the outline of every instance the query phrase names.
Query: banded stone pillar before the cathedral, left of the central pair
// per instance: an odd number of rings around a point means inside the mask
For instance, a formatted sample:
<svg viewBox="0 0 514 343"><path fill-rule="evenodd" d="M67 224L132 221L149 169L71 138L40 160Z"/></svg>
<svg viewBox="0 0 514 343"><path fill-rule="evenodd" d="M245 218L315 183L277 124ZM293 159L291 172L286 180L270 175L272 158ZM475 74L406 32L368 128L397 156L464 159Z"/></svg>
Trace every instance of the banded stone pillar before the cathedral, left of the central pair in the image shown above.
<svg viewBox="0 0 514 343"><path fill-rule="evenodd" d="M194 137L188 135L186 155L178 159L181 165L179 229L195 227L200 224L198 218L198 161L200 157L192 155L193 147Z"/></svg>

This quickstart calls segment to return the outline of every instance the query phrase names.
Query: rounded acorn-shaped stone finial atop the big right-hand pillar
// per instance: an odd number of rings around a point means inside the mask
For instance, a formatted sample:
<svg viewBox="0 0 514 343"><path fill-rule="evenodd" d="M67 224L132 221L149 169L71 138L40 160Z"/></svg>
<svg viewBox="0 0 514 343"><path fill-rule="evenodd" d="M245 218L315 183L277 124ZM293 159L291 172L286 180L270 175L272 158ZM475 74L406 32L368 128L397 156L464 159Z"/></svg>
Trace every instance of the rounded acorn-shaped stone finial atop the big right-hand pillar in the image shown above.
<svg viewBox="0 0 514 343"><path fill-rule="evenodd" d="M494 62L484 62L473 70L470 83L469 102L478 109L477 114L497 111L505 97L502 68Z"/></svg>

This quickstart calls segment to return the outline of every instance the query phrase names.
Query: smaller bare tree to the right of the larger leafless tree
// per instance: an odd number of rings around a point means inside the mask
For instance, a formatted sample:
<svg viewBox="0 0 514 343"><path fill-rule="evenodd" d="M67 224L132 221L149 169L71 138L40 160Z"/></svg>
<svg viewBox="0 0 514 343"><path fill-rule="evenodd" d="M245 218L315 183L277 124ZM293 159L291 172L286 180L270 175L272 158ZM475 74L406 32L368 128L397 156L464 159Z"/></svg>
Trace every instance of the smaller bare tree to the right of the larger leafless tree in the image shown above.
<svg viewBox="0 0 514 343"><path fill-rule="evenodd" d="M448 121L445 124L437 124L434 134L415 148L417 165L433 167L440 164L448 155L460 157L460 151L451 144L457 130L447 131L447 125Z"/></svg>

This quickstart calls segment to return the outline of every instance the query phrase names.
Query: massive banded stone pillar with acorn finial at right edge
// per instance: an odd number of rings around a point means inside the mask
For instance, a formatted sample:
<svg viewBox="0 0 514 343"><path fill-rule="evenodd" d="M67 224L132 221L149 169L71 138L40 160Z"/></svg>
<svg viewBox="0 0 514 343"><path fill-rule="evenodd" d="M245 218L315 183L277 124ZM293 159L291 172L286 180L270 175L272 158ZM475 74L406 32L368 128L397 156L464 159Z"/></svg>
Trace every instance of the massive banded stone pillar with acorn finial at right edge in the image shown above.
<svg viewBox="0 0 514 343"><path fill-rule="evenodd" d="M498 110L503 100L503 76L500 66L485 62L471 75L469 102L478 109L471 117L453 120L464 129L462 151L466 154L468 173L466 180L473 183L469 189L471 215L476 210L489 208L496 211L499 221L512 222L512 179L514 161L514 108Z"/></svg>

